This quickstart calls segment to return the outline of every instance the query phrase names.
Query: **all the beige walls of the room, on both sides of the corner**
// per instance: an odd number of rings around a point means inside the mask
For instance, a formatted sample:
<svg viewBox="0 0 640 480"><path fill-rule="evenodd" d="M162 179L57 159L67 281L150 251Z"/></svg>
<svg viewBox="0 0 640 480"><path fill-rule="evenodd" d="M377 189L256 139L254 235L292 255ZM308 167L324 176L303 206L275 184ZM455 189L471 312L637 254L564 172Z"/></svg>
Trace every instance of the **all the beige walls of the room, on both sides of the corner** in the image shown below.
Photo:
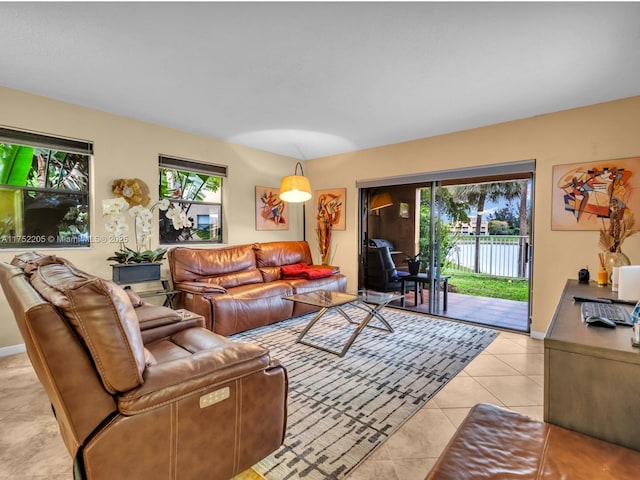
<svg viewBox="0 0 640 480"><path fill-rule="evenodd" d="M110 198L115 178L139 177L153 189L159 153L229 166L225 181L225 239L229 244L300 238L301 213L291 206L288 232L255 230L256 185L277 187L290 174L295 160L240 147L201 135L193 135L97 110L0 88L0 125L28 129L94 142L92 228L104 235L100 206ZM536 160L533 327L543 333L567 278L589 266L597 272L597 232L551 230L551 171L553 165L640 155L640 97L542 115L450 135L388 145L306 162L305 173L314 189L347 188L345 231L334 231L332 261L348 276L349 288L357 286L358 196L357 180L451 170L519 160ZM640 170L640 169L639 169ZM640 173L639 173L640 174ZM314 258L318 248L314 233L313 205L307 203L307 239ZM55 250L81 268L110 275L105 260L112 245L89 250ZM632 263L640 263L640 235L631 237L624 251ZM9 261L15 252L1 251ZM0 296L0 349L21 344L4 297Z"/></svg>

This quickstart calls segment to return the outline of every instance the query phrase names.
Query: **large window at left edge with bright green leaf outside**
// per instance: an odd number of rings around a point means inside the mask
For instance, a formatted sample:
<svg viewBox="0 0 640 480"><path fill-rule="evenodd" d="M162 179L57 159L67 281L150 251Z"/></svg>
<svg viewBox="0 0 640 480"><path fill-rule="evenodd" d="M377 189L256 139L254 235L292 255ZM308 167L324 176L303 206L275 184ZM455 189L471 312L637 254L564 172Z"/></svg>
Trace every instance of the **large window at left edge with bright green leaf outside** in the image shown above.
<svg viewBox="0 0 640 480"><path fill-rule="evenodd" d="M0 127L0 248L89 247L90 142Z"/></svg>

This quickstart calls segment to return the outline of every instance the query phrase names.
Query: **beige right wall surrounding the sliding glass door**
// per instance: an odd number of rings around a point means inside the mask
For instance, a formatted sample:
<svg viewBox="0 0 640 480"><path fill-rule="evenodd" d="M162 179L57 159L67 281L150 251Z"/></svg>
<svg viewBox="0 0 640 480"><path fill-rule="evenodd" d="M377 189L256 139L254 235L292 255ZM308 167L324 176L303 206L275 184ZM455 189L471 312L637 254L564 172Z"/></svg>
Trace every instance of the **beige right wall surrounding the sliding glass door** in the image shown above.
<svg viewBox="0 0 640 480"><path fill-rule="evenodd" d="M536 160L533 324L546 330L567 278L598 270L598 232L551 230L553 165L640 156L640 97L307 162L313 188L347 187L347 230L334 232L333 263L357 278L357 180ZM637 175L640 174L640 165ZM640 225L640 215L638 223ZM307 228L309 230L309 228ZM310 235L310 232L307 232ZM640 264L640 234L623 248Z"/></svg>

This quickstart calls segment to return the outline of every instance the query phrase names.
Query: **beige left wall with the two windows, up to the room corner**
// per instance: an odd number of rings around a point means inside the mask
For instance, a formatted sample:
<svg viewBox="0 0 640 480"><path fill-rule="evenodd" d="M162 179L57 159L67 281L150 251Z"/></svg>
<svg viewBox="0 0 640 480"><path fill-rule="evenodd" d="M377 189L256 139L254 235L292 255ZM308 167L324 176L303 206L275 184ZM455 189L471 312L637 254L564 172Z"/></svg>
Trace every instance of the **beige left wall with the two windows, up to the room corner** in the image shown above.
<svg viewBox="0 0 640 480"><path fill-rule="evenodd" d="M163 153L229 166L229 176L223 187L225 241L229 244L297 240L301 237L302 210L295 205L291 208L288 231L255 229L255 186L277 188L282 176L294 171L294 159L7 88L0 88L0 125L94 143L91 183L94 194L91 231L94 235L106 234L102 221L102 200L112 198L111 182L114 179L141 178L157 198L158 154ZM157 232L154 238L157 243ZM90 249L39 251L63 256L84 270L110 278L111 262L106 258L116 247L95 244ZM0 261L10 261L15 253L0 251ZM0 311L3 312L0 316L2 352L2 347L22 344L23 341L1 293Z"/></svg>

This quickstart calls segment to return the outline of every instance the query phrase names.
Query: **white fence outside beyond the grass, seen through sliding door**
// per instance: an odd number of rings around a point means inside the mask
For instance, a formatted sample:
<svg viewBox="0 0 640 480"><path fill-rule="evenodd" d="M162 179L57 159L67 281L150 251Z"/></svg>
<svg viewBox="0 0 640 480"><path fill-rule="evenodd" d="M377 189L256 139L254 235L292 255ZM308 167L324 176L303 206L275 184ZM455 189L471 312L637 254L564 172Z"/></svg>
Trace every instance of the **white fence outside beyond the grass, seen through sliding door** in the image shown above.
<svg viewBox="0 0 640 480"><path fill-rule="evenodd" d="M460 236L446 258L449 270L474 271L477 238L480 239L479 273L497 277L529 277L528 236Z"/></svg>

